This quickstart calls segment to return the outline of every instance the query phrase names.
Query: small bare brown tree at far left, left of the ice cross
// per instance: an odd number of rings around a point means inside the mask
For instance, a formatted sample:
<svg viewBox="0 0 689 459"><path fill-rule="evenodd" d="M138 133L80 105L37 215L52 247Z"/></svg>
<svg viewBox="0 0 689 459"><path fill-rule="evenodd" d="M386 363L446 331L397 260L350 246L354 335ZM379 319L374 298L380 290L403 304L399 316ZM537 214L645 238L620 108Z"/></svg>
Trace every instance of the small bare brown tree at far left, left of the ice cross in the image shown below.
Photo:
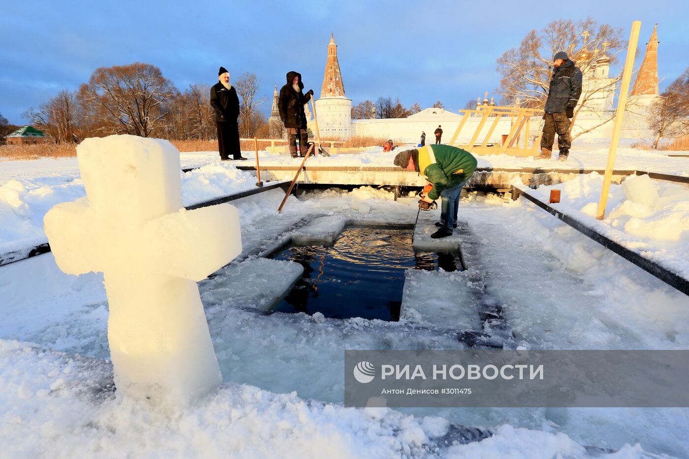
<svg viewBox="0 0 689 459"><path fill-rule="evenodd" d="M76 140L76 103L74 94L66 89L42 103L37 110L28 109L23 116L31 120L32 125L48 131L56 143Z"/></svg>

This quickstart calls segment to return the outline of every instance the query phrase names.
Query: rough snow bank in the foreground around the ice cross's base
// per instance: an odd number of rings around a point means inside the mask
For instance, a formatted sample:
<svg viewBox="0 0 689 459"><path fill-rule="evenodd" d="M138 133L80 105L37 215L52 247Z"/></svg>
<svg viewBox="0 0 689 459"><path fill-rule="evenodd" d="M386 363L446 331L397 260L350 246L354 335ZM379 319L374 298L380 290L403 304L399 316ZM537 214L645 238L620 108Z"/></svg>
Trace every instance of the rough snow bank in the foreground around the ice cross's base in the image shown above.
<svg viewBox="0 0 689 459"><path fill-rule="evenodd" d="M223 384L183 410L112 392L107 361L0 340L0 449L10 457L588 457L564 434L500 427L462 445L435 416L354 409ZM479 437L480 438L480 437ZM620 451L623 453L623 451ZM625 447L610 457L642 457ZM601 454L597 457L605 457Z"/></svg>

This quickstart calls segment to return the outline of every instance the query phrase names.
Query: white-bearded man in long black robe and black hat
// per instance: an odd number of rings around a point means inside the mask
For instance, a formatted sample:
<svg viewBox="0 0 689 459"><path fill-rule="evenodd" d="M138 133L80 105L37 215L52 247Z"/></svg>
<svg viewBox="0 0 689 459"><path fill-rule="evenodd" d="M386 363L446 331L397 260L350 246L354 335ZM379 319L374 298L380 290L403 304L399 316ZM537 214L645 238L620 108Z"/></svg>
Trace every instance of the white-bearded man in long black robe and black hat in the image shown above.
<svg viewBox="0 0 689 459"><path fill-rule="evenodd" d="M218 127L218 151L220 160L245 160L239 147L239 98L229 84L229 72L225 67L218 70L218 83L211 87L210 103ZM232 156L232 158L230 158Z"/></svg>

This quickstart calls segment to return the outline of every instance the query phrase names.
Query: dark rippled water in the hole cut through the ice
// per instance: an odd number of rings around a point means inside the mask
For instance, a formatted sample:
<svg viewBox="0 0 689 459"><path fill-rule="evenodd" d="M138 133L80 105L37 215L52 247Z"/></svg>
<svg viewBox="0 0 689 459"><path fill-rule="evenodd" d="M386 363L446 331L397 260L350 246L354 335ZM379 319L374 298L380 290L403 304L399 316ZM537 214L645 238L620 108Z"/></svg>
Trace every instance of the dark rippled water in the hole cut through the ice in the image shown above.
<svg viewBox="0 0 689 459"><path fill-rule="evenodd" d="M296 261L304 274L273 308L325 317L400 320L404 270L461 270L458 254L415 253L412 228L350 227L335 244L289 246L274 259Z"/></svg>

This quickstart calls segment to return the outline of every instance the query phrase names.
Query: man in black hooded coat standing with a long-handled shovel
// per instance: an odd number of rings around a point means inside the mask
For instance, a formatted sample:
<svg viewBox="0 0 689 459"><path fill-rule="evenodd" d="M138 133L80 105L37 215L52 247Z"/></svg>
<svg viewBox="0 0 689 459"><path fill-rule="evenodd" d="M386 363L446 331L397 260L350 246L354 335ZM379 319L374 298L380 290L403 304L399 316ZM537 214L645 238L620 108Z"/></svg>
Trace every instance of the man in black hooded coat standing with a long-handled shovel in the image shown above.
<svg viewBox="0 0 689 459"><path fill-rule="evenodd" d="M306 156L307 143L309 136L306 130L306 114L304 113L304 105L311 100L313 96L313 89L304 94L304 83L301 81L301 74L298 72L287 72L287 84L280 89L280 97L278 98L278 110L280 111L280 119L282 124L287 129L289 136L289 154L292 158L297 155L297 136L300 139L300 153Z"/></svg>

